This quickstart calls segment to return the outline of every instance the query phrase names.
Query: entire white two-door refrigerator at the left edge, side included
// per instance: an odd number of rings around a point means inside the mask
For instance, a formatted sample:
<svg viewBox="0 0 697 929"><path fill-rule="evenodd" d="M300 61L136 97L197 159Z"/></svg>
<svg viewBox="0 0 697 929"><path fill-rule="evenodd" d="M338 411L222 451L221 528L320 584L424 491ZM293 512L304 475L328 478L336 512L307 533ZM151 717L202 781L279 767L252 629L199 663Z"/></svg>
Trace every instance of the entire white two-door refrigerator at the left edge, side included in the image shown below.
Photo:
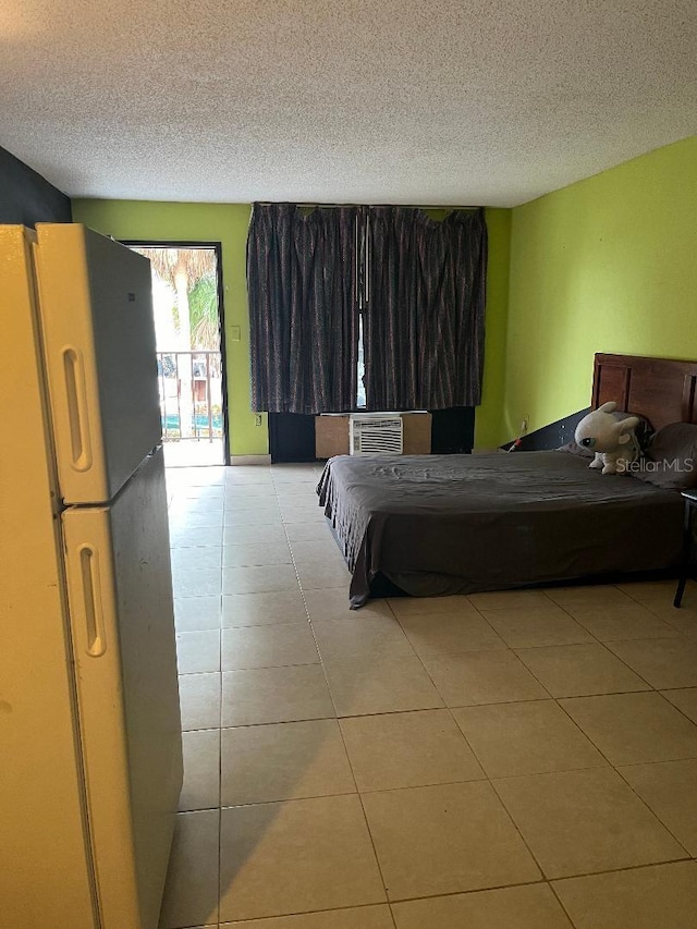
<svg viewBox="0 0 697 929"><path fill-rule="evenodd" d="M182 748L149 262L0 227L0 927L156 929Z"/></svg>

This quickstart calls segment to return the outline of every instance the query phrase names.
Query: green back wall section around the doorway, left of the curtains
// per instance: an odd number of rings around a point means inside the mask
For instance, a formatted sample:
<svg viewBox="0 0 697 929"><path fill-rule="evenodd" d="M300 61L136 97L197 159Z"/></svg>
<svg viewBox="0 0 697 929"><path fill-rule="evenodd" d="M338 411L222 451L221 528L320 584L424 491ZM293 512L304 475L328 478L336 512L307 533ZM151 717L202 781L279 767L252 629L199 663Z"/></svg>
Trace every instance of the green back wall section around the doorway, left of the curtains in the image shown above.
<svg viewBox="0 0 697 929"><path fill-rule="evenodd" d="M114 239L220 242L224 288L230 450L268 453L266 416L255 425L249 410L249 317L245 284L248 204L175 204L144 200L73 200L73 219ZM240 327L241 340L231 338Z"/></svg>

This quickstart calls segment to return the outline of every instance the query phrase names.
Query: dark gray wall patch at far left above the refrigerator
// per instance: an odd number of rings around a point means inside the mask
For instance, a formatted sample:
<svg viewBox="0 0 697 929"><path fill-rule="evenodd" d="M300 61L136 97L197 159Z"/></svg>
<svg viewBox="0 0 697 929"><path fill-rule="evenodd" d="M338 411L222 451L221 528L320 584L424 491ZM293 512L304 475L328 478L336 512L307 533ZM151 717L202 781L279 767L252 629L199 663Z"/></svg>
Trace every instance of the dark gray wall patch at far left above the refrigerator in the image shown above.
<svg viewBox="0 0 697 929"><path fill-rule="evenodd" d="M0 148L0 222L71 222L70 199L14 155Z"/></svg>

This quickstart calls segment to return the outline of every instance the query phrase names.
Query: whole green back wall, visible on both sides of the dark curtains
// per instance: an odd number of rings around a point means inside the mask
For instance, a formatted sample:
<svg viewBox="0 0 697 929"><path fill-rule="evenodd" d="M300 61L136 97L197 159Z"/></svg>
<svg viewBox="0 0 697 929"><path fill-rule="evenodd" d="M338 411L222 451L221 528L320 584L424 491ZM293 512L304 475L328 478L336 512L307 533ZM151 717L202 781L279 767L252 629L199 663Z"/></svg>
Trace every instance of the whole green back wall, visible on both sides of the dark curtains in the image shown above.
<svg viewBox="0 0 697 929"><path fill-rule="evenodd" d="M433 216L441 211L429 211ZM249 319L245 286L245 250L250 207L247 204L178 204L143 200L73 200L75 222L114 239L220 242L224 286L230 412L233 455L268 453L266 416L256 426L249 412ZM444 211L443 211L444 215ZM497 444L503 403L505 320L509 289L510 210L487 209L487 342L482 405L477 411L477 445ZM241 341L233 342L232 327Z"/></svg>

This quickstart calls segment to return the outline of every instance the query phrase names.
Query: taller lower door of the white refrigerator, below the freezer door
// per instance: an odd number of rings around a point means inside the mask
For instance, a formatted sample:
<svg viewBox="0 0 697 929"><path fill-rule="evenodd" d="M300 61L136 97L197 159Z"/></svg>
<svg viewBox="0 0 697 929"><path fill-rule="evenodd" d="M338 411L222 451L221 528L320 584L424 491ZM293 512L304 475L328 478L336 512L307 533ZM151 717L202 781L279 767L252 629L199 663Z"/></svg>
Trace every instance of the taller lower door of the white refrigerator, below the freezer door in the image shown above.
<svg viewBox="0 0 697 929"><path fill-rule="evenodd" d="M182 784L162 450L62 519L102 927L156 929Z"/></svg>

